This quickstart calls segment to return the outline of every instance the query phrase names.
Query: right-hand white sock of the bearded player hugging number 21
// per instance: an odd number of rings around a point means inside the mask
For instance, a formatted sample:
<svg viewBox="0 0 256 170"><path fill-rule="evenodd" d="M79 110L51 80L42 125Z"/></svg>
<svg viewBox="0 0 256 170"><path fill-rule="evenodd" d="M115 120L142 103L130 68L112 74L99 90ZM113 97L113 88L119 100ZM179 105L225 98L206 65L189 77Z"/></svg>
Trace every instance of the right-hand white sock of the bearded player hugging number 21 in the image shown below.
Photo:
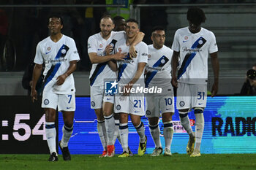
<svg viewBox="0 0 256 170"><path fill-rule="evenodd" d="M106 131L107 131L107 137L108 137L108 142L107 145L113 145L113 137L115 133L115 119L113 117L113 114L109 116L104 116L105 118L105 126L106 126Z"/></svg>

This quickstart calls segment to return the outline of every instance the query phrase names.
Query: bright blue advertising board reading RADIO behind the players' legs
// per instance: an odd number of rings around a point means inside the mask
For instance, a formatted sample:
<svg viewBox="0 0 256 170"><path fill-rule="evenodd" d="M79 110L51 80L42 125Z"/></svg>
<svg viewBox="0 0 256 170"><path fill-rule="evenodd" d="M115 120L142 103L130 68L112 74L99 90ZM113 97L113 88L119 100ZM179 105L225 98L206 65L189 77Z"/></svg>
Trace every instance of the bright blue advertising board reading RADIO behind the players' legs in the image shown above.
<svg viewBox="0 0 256 170"><path fill-rule="evenodd" d="M72 154L101 154L102 144L97 134L97 117L90 108L89 97L76 98L75 124L69 151ZM208 97L204 111L205 128L201 144L202 153L256 153L256 96ZM195 115L189 112L189 119L195 131ZM154 142L148 130L148 120L142 117L148 136L146 153L154 150ZM178 110L173 115L174 134L171 152L186 153L189 136L182 128ZM59 113L59 139L62 136L62 115ZM162 120L159 122L161 134ZM162 147L165 139L161 135ZM129 147L137 154L139 136L129 120ZM116 153L121 153L121 145L116 141Z"/></svg>

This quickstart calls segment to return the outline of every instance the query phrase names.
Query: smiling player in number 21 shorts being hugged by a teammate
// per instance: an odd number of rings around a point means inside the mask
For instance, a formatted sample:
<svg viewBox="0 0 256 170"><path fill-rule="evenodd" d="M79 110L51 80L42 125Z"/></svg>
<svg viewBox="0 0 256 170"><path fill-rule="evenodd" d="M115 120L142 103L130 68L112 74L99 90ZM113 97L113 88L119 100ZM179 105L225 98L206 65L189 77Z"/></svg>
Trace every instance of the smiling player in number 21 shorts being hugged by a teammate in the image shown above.
<svg viewBox="0 0 256 170"><path fill-rule="evenodd" d="M129 45L131 45L131 42L134 41L139 32L138 21L134 19L127 20L125 31L126 39L116 42L116 53L129 52ZM148 47L144 42L140 42L138 45L135 45L135 50L138 53L137 58L131 59L128 53L124 61L117 61L117 63L109 62L111 69L118 71L118 85L121 86L121 89L124 89L124 95L121 95L119 91L115 101L115 112L120 114L119 129L123 153L118 157L121 158L129 157L128 115L140 136L138 155L143 155L146 152L147 138L144 125L140 120L140 117L144 115L144 96L143 94L129 92L132 88L144 87L143 74L148 62Z"/></svg>

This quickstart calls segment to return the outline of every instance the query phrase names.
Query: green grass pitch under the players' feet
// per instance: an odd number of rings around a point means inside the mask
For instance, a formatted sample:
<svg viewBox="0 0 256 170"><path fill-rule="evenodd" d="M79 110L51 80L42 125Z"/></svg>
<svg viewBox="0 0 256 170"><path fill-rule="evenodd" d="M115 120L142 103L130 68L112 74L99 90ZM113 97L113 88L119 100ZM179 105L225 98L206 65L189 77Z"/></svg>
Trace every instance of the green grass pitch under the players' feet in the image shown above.
<svg viewBox="0 0 256 170"><path fill-rule="evenodd" d="M58 162L48 162L49 155L0 155L1 170L66 170L66 169L168 169L168 170L227 170L256 169L256 154L203 154L190 158L185 154L173 154L172 157L98 158L99 155L72 155L72 161L63 161L59 155Z"/></svg>

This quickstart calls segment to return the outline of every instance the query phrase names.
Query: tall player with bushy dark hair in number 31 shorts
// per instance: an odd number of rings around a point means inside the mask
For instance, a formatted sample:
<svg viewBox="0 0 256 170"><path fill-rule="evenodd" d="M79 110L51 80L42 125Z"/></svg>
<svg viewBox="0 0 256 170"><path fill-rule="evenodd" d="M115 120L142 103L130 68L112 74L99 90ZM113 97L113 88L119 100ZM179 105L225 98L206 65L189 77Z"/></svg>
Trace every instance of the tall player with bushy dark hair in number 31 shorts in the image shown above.
<svg viewBox="0 0 256 170"><path fill-rule="evenodd" d="M218 91L219 60L217 42L214 34L201 27L206 16L202 9L189 8L187 11L189 26L176 31L173 39L172 85L177 89L177 109L181 125L189 134L187 154L191 157L200 156L200 144L203 136L203 110L207 99L208 55L214 70L214 84L211 97ZM178 58L180 64L178 65ZM176 70L178 66L178 76ZM195 134L189 123L188 112L194 109ZM195 150L194 150L195 147Z"/></svg>

